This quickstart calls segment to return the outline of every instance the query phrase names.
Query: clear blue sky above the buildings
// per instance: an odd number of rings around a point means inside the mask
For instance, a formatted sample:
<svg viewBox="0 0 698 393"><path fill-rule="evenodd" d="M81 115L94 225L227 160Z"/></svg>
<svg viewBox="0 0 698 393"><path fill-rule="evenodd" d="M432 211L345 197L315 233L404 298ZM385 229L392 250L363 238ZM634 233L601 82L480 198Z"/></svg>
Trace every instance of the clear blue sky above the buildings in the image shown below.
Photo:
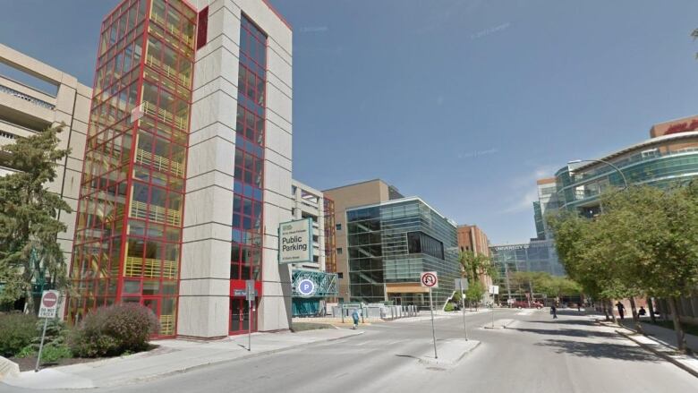
<svg viewBox="0 0 698 393"><path fill-rule="evenodd" d="M0 42L91 85L115 0L0 3ZM294 28L294 177L380 177L492 243L535 235L536 178L698 113L692 0L272 3Z"/></svg>

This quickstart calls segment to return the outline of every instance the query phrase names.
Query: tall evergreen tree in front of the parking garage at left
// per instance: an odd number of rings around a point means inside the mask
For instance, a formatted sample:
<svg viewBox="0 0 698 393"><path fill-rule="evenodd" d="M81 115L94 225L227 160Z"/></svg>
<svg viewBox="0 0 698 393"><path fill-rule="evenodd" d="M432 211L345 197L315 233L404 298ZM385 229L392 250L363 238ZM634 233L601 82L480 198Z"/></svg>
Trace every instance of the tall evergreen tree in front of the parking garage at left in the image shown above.
<svg viewBox="0 0 698 393"><path fill-rule="evenodd" d="M45 279L59 289L68 285L56 236L65 230L59 212L71 209L47 190L55 180L56 161L68 155L68 150L58 149L61 128L18 138L0 150L0 165L19 171L0 177L0 282L4 283L0 303L24 297L27 312L36 312L32 283Z"/></svg>

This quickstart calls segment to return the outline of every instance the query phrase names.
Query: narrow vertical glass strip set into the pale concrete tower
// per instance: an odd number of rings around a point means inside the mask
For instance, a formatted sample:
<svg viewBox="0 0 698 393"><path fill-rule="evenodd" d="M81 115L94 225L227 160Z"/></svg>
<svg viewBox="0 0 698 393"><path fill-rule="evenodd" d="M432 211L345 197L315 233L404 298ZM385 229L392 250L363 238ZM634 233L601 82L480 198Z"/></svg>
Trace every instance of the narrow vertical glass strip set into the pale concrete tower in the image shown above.
<svg viewBox="0 0 698 393"><path fill-rule="evenodd" d="M267 36L243 15L240 28L237 122L235 124L233 245L231 287L244 288L244 280L261 282L262 207L264 184L265 99ZM258 299L261 294L258 294ZM244 302L246 304L246 302ZM256 330L250 310L231 298L230 332Z"/></svg>

